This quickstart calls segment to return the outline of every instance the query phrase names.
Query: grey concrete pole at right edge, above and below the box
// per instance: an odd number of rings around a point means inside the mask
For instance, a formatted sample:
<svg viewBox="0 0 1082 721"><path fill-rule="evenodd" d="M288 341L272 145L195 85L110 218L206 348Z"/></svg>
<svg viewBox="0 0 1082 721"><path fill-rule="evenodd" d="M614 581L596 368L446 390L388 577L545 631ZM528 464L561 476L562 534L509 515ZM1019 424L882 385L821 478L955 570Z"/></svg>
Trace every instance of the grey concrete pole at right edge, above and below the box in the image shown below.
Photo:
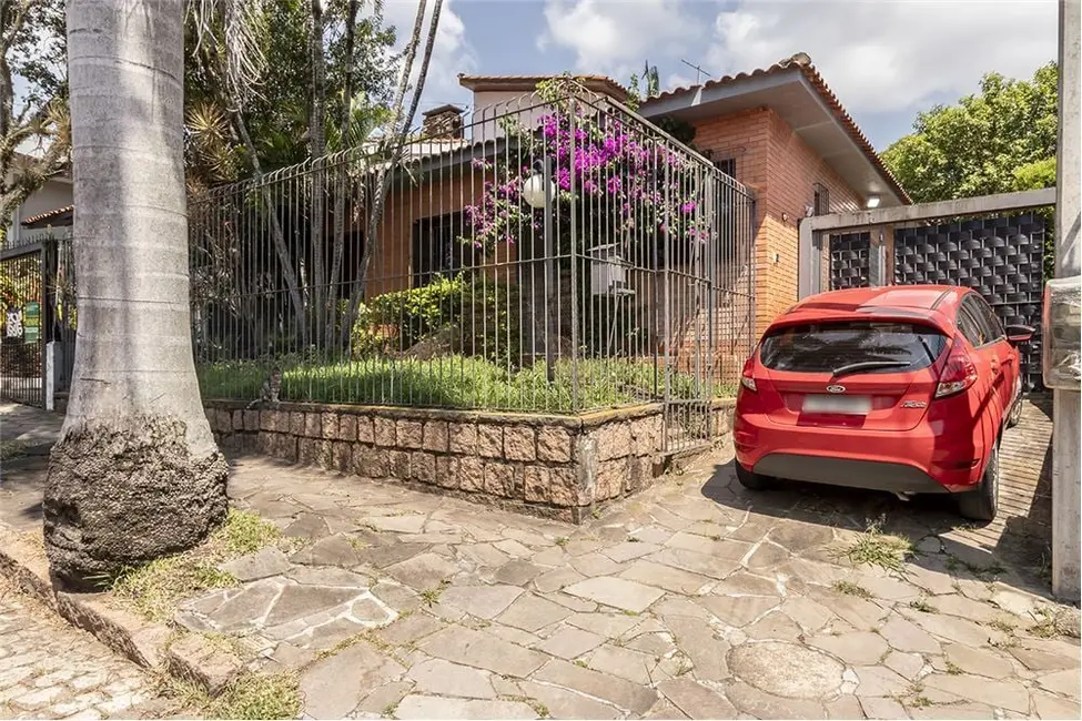
<svg viewBox="0 0 1082 721"><path fill-rule="evenodd" d="M1079 275L1080 4L1060 0L1060 128L1055 170L1055 276ZM1082 469L1080 393L1054 390L1052 402L1052 592L1078 601Z"/></svg>

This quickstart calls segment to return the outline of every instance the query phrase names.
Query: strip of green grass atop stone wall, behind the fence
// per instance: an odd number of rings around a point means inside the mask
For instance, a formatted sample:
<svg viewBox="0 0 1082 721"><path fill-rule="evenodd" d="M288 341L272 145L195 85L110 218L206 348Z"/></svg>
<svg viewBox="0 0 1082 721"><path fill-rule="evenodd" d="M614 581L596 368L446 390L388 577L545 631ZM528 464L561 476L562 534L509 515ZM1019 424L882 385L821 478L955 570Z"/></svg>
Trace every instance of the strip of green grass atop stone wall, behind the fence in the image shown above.
<svg viewBox="0 0 1082 721"><path fill-rule="evenodd" d="M650 403L665 386L654 364L626 358L580 358L578 399L572 404L576 376L569 360L558 360L548 383L545 363L509 368L479 356L445 355L431 359L372 357L360 360L283 358L282 399L395 406L438 406L498 410L572 413ZM204 398L252 399L269 368L256 362L203 364L198 369ZM706 395L695 379L675 373L669 387L679 398ZM714 396L731 397L735 386L715 385Z"/></svg>

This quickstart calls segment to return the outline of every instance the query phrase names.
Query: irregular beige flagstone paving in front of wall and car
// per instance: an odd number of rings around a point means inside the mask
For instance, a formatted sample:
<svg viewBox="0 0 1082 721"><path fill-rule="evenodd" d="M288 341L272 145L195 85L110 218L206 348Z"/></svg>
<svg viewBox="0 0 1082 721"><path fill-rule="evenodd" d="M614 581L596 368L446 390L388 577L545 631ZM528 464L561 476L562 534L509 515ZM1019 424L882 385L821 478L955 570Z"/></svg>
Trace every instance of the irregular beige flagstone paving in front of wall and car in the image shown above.
<svg viewBox="0 0 1082 721"><path fill-rule="evenodd" d="M304 544L176 620L295 670L305 718L1080 717L1042 549L937 499L752 495L724 449L582 527L262 457L230 494Z"/></svg>

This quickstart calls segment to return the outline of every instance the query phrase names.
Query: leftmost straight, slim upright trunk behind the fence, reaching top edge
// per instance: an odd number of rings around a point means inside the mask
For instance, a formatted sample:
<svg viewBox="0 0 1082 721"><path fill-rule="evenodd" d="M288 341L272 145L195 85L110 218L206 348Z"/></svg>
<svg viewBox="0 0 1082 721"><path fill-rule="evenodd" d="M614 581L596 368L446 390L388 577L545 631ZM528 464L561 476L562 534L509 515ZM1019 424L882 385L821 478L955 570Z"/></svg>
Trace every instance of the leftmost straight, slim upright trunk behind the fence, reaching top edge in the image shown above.
<svg viewBox="0 0 1082 721"><path fill-rule="evenodd" d="M312 55L312 119L309 123L309 152L312 155L312 325L315 331L316 347L323 348L323 324L327 316L326 304L326 243L323 237L325 225L324 179L326 164L326 60L323 57L323 0L312 0L312 35L309 38L309 52Z"/></svg>

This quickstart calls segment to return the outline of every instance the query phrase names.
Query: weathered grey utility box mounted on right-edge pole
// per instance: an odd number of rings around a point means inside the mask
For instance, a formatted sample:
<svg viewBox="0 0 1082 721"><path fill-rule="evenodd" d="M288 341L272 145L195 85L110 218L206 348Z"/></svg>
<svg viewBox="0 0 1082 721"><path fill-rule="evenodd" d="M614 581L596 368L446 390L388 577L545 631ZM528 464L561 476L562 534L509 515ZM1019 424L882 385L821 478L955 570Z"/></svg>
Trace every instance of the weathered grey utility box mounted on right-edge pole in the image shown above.
<svg viewBox="0 0 1082 721"><path fill-rule="evenodd" d="M1082 276L1044 285L1044 387L1080 389L1082 384Z"/></svg>

